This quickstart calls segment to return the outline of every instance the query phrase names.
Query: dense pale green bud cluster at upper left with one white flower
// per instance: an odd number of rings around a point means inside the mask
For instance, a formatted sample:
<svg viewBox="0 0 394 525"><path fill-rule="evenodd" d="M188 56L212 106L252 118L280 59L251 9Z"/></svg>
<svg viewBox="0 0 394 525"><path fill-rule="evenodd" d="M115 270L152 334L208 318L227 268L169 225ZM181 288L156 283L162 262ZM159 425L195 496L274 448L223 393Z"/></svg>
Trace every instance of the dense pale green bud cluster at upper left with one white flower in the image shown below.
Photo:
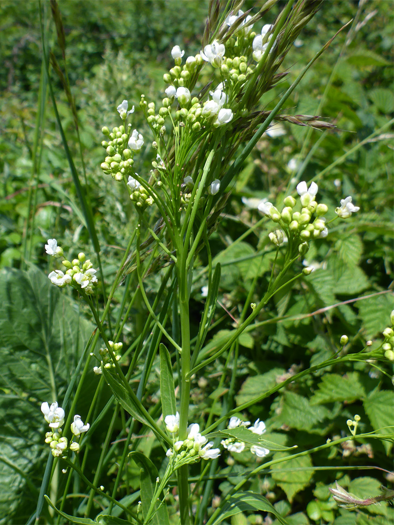
<svg viewBox="0 0 394 525"><path fill-rule="evenodd" d="M101 170L106 175L111 175L116 181L121 182L127 175L133 173L133 156L134 153L138 153L141 150L143 137L137 130L133 130L130 134L131 124L128 124L127 129L125 129L123 124L115 127L111 133L107 127L103 127L101 131L110 139L109 141L104 140L101 142L107 153L104 162L100 165Z"/></svg>

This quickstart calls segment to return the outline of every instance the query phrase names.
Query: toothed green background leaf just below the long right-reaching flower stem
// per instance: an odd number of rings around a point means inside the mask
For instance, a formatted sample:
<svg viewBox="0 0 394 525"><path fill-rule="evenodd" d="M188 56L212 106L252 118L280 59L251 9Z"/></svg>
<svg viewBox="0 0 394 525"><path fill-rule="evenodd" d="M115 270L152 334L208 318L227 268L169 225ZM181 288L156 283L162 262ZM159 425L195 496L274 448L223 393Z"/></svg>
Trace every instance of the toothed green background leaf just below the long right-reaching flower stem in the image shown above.
<svg viewBox="0 0 394 525"><path fill-rule="evenodd" d="M351 403L366 395L365 388L359 381L358 372L349 372L345 375L325 374L318 390L309 399L311 405L346 401Z"/></svg>

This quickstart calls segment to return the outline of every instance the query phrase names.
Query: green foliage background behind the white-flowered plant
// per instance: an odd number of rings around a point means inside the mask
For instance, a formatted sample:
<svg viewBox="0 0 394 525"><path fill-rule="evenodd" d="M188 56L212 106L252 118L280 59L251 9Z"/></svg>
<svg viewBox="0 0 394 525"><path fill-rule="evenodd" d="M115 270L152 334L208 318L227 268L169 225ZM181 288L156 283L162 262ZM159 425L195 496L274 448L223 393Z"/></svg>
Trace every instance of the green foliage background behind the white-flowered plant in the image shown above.
<svg viewBox="0 0 394 525"><path fill-rule="evenodd" d="M253 4L247 2L246 5ZM66 64L86 164L86 188L94 212L103 272L106 282L111 283L130 236L135 212L117 184L105 178L99 169L103 156L101 127L117 123L116 107L123 98L136 107L141 93L149 100L161 99L165 87L162 75L172 66L172 46L179 44L187 49L187 54L200 50L208 3L63 0L59 7L66 31ZM44 10L49 45L59 63L63 63L48 3L44 3ZM270 12L266 23L272 22L277 12L275 9ZM47 98L40 113L37 103L40 79L43 81L38 4L4 0L0 4L0 15L3 64L0 69L0 128L3 130L0 135L3 174L0 186L3 441L0 523L22 523L35 510L47 457L39 404L49 400L48 369L53 370L60 400L92 330L78 298L70 291L50 286L45 274L51 269L48 267L51 261L47 262L43 245L48 238L61 239L61 245L69 250L66 255L71 258L71 254L82 249L91 254L93 250L53 107ZM324 361L338 350L342 334L349 336L348 351L360 350L369 339L377 344L375 338L379 338L379 333L389 324L393 301L391 293L385 292L390 287L393 271L393 134L392 127L387 125L393 116L391 2L370 1L361 6L351 1L326 2L289 54L288 76L267 93L261 106L272 109L277 97L308 60L355 16L359 17L357 30L347 36L341 34L335 40L283 110L291 114L320 114L335 121L339 130L322 134L284 124L286 134L282 137L264 135L245 163L220 227L211 237L214 262L222 264L219 298L226 310L237 317L239 305L245 300L256 272L261 276L257 296L266 287L267 272L274 257L266 226L235 242L260 219L258 212L246 206L242 198L268 197L270 201L281 202L288 186L294 188L299 180L315 177L371 133L383 128L362 148L318 176L323 202L334 208L340 198L352 195L360 212L347 222L335 223L327 240L316 241L307 260L316 261L320 268L295 288L277 295L259 319L260 328L240 338L236 404L269 390L299 370ZM82 173L72 113L55 71L51 71L51 79L66 138L77 171ZM35 133L40 122L43 133L36 149ZM139 170L148 172L155 155L149 144L149 130L138 108L133 127L146 138L147 147L139 160ZM312 147L313 155L305 171L292 172L288 162L293 158L303 161ZM298 176L296 181L294 176ZM93 255L91 258L97 262ZM198 278L192 285L194 333L203 308L201 287L206 284L205 265L204 254L200 254L196 261ZM160 280L159 274L147 279L151 297ZM365 299L349 302L363 297ZM112 312L114 319L121 299L121 290L118 290ZM337 306L313 314L332 305ZM126 344L139 333L146 316L142 301L137 302L131 314L123 332ZM220 344L231 328L232 321L225 311L217 313L213 341ZM195 378L191 421L220 415L222 395L228 385L219 383L217 378L226 366L231 367L231 362L226 365L224 359L218 360L205 377ZM252 407L247 417L263 419L277 442L282 440L283 445L304 447L341 436L347 431L346 419L356 413L361 416L362 431L392 425L392 384L382 371L391 376L392 365L385 364L383 370L381 365L375 367L374 363L364 362L333 366L331 370L289 383L260 406ZM133 380L137 382L139 377L137 374ZM86 406L78 405L79 411L87 411L88 385L96 381L90 374L84 387ZM157 400L158 381L153 373L149 383L153 400ZM100 400L101 406L106 401ZM119 428L117 422L114 439ZM106 423L99 421L95 429L98 443L106 429ZM152 444L139 447L147 454ZM153 462L159 453L152 449ZM116 472L117 454L115 447L107 460L107 478L102 480L109 487ZM377 495L379 485L392 483L392 477L385 477L371 467L392 468L391 454L389 443L375 440L365 443L364 448L333 450L329 455L319 453L313 458L306 456L294 460L294 465L281 464L271 473L256 477L247 490L268 494L276 511L287 516L288 523L389 524L394 518L387 504L359 512L338 510L329 498L327 485L338 479L342 486L360 496ZM95 460L97 451L89 458L91 471ZM252 460L246 453L223 460L221 479L214 486L215 495L224 495L239 480L241 469L252 468L254 461L255 458ZM129 481L136 472L132 465L128 471ZM283 468L279 468L282 465ZM325 465L336 470L319 470ZM346 467L360 466L365 468L346 470ZM300 470L291 471L293 467ZM76 482L74 491L78 490ZM124 484L122 491L120 497L126 493ZM67 511L82 515L84 501L70 502ZM228 519L231 523L260 523L261 516L262 513L256 512L248 513L247 518L241 514Z"/></svg>

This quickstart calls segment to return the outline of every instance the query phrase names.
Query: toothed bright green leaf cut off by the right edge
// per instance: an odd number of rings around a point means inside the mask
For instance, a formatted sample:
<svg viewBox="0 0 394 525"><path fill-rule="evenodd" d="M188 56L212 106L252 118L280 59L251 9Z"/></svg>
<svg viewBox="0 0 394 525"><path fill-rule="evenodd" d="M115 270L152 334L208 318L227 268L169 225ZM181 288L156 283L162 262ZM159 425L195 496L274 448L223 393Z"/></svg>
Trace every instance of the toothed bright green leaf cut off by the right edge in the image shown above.
<svg viewBox="0 0 394 525"><path fill-rule="evenodd" d="M387 434L390 432L390 428L393 428L394 413L394 396L389 390L381 390L380 392L371 392L364 400L364 410L371 422L371 426L374 430L382 428L382 433ZM392 443L383 441L383 446L386 452L389 453Z"/></svg>

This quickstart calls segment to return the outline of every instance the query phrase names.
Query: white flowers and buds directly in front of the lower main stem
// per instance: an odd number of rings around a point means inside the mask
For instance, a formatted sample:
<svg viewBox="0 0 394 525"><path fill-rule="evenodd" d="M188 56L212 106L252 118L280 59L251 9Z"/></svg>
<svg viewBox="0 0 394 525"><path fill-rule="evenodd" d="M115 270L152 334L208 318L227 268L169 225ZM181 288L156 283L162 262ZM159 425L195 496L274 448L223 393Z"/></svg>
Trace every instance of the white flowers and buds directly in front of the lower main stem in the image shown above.
<svg viewBox="0 0 394 525"><path fill-rule="evenodd" d="M167 457L172 458L177 463L195 463L200 459L215 459L220 456L220 448L212 448L213 442L208 443L208 439L200 434L198 423L192 423L188 427L188 437L179 440L179 413L171 414L164 418L165 427L173 435L173 447L167 450Z"/></svg>

